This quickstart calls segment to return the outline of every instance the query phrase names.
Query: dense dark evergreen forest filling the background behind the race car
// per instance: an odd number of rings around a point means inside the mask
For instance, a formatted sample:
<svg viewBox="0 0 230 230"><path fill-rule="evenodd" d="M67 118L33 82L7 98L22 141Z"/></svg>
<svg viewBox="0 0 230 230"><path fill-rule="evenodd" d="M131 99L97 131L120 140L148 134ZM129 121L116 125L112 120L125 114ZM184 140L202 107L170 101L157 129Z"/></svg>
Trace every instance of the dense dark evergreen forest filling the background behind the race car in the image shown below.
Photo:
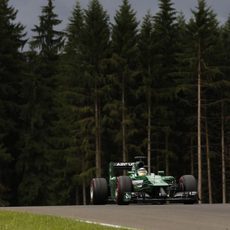
<svg viewBox="0 0 230 230"><path fill-rule="evenodd" d="M141 22L128 0L113 20L76 2L58 31L47 0L28 40L0 0L1 206L87 204L90 180L136 155L230 201L230 18L158 2Z"/></svg>

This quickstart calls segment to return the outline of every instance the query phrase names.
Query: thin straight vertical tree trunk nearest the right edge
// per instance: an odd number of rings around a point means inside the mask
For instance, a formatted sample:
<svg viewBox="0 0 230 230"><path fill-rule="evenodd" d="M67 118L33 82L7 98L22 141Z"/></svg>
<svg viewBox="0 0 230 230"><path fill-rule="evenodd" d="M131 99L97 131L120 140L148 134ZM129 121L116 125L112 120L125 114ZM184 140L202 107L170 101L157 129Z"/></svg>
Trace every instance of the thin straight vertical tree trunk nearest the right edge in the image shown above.
<svg viewBox="0 0 230 230"><path fill-rule="evenodd" d="M224 102L221 102L221 161L222 161L222 203L226 203L226 172L225 172L225 143L224 143Z"/></svg>

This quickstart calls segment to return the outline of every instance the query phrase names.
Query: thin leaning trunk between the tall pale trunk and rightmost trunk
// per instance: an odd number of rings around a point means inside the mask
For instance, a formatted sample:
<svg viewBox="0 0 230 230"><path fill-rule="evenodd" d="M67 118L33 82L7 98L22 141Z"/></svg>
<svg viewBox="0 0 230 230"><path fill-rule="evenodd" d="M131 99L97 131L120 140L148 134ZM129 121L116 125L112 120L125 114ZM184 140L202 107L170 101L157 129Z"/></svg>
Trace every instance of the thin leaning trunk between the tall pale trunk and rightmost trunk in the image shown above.
<svg viewBox="0 0 230 230"><path fill-rule="evenodd" d="M208 132L207 117L205 118L205 138L206 138L206 158L207 158L207 171L208 171L208 198L209 198L209 203L212 204L211 162L210 162L209 132Z"/></svg>

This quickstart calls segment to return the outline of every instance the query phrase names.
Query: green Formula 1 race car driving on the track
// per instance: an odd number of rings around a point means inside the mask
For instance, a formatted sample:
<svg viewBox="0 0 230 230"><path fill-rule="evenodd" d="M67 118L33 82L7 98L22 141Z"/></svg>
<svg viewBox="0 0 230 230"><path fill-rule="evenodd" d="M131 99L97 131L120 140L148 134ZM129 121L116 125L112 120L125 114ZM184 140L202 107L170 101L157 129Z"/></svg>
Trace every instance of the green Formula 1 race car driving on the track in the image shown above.
<svg viewBox="0 0 230 230"><path fill-rule="evenodd" d="M148 173L142 160L111 162L109 181L93 178L90 185L92 204L115 202L118 205L149 202L178 202L193 204L198 201L197 182L194 176L184 175L178 181L173 176Z"/></svg>

